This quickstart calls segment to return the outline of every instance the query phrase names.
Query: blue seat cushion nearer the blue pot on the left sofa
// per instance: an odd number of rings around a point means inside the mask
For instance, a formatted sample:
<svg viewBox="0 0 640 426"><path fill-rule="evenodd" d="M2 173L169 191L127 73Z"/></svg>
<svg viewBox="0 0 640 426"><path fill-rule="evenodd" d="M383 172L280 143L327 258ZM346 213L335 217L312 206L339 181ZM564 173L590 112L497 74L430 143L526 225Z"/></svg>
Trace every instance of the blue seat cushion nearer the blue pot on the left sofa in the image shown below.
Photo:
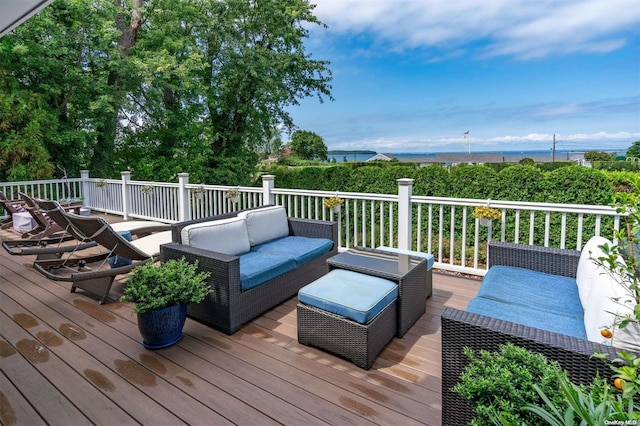
<svg viewBox="0 0 640 426"><path fill-rule="evenodd" d="M240 256L240 287L249 290L296 268L293 257L248 252Z"/></svg>

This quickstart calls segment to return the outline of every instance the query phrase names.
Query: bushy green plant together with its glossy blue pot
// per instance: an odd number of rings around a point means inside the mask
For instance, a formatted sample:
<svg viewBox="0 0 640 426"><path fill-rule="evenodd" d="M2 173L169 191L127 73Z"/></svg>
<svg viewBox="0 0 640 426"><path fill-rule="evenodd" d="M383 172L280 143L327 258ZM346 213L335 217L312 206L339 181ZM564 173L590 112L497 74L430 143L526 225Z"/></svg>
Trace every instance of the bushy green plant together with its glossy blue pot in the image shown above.
<svg viewBox="0 0 640 426"><path fill-rule="evenodd" d="M133 269L120 300L135 303L133 312L145 348L165 348L182 338L187 304L198 303L211 293L206 281L210 275L198 273L198 263L184 258Z"/></svg>

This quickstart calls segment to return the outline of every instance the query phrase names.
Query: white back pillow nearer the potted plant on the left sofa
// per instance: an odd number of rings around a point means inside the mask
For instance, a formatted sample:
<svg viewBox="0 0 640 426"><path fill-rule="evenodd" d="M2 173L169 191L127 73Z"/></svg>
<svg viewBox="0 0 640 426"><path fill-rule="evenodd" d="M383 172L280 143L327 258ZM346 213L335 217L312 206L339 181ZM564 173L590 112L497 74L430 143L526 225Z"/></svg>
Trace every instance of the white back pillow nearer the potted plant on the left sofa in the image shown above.
<svg viewBox="0 0 640 426"><path fill-rule="evenodd" d="M251 250L244 219L212 220L185 226L180 233L182 244L237 256Z"/></svg>

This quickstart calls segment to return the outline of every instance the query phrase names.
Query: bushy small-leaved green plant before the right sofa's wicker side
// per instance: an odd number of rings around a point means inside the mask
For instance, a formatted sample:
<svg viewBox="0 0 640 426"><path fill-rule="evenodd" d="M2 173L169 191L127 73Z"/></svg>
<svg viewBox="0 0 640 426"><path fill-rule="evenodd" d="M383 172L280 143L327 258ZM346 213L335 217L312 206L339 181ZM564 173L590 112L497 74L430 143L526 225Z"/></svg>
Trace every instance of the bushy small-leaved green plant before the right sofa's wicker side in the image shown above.
<svg viewBox="0 0 640 426"><path fill-rule="evenodd" d="M537 415L524 409L544 403L536 386L554 404L561 404L561 368L556 362L511 343L501 345L497 352L481 350L478 357L469 348L464 353L471 362L453 391L475 411L472 425L491 424L498 417L507 422L502 424L538 424Z"/></svg>

